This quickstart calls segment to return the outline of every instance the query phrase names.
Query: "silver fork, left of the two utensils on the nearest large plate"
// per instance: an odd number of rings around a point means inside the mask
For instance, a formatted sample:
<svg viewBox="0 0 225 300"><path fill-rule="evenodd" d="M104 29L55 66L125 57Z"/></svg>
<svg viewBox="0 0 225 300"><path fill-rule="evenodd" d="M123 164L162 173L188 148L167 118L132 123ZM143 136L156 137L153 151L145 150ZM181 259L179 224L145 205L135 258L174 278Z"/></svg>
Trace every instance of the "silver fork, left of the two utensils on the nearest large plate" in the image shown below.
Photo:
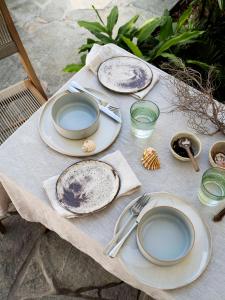
<svg viewBox="0 0 225 300"><path fill-rule="evenodd" d="M134 218L137 217L139 215L139 213L142 211L142 209L145 207L145 205L148 203L149 199L150 199L150 195L147 194L143 194L142 196L140 196L137 201L131 206L130 208L130 216L129 218L126 220L126 223L120 228L120 230L115 234L115 236L113 237L113 239L108 243L108 245L106 246L105 250L104 250L104 254L109 255L109 253L111 252L113 246L115 245L115 243L118 241L118 239L120 238L121 234L123 233L123 231L127 228L128 224L130 223L130 221Z"/></svg>

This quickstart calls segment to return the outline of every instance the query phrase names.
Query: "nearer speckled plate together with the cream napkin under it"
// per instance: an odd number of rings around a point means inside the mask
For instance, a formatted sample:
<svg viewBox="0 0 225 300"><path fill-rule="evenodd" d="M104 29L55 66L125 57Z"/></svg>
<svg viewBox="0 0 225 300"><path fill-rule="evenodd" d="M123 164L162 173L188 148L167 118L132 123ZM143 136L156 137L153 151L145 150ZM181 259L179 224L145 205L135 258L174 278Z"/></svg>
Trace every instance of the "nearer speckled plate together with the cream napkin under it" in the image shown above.
<svg viewBox="0 0 225 300"><path fill-rule="evenodd" d="M56 212L65 218L85 217L134 193L140 181L120 151L100 160L83 160L43 182Z"/></svg>

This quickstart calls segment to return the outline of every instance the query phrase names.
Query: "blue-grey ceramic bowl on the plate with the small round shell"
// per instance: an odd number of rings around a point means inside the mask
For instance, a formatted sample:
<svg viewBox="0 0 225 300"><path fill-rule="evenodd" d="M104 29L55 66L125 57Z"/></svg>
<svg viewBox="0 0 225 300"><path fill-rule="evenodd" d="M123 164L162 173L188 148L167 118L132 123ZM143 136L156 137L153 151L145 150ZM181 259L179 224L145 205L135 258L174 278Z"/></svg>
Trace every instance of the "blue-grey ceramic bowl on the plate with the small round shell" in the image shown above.
<svg viewBox="0 0 225 300"><path fill-rule="evenodd" d="M99 126L98 103L83 93L65 93L52 106L56 130L65 138L80 140L92 135Z"/></svg>

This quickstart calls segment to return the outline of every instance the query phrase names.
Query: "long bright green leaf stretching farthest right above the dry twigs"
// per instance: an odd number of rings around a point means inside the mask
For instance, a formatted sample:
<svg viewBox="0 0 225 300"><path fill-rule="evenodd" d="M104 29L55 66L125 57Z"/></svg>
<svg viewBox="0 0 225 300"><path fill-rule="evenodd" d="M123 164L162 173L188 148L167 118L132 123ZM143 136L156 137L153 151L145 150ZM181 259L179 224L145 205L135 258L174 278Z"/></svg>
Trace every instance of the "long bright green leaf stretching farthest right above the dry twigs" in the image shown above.
<svg viewBox="0 0 225 300"><path fill-rule="evenodd" d="M159 46L157 47L158 49L156 49L152 59L155 59L156 57L160 56L163 52L165 52L172 46L193 42L194 39L198 38L203 33L204 31L196 30L191 32L183 32L181 34L173 36L169 40L159 44Z"/></svg>

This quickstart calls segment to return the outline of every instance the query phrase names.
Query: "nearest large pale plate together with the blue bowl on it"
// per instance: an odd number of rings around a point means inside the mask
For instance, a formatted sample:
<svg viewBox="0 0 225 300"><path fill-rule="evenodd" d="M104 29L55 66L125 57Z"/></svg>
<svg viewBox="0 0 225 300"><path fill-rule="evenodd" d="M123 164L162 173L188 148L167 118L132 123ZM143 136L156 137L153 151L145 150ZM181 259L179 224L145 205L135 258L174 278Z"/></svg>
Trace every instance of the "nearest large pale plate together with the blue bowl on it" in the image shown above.
<svg viewBox="0 0 225 300"><path fill-rule="evenodd" d="M114 234L129 218L132 201L122 212ZM175 289L196 280L212 251L207 226L181 198L152 193L133 232L119 252L125 269L139 282L158 289Z"/></svg>

